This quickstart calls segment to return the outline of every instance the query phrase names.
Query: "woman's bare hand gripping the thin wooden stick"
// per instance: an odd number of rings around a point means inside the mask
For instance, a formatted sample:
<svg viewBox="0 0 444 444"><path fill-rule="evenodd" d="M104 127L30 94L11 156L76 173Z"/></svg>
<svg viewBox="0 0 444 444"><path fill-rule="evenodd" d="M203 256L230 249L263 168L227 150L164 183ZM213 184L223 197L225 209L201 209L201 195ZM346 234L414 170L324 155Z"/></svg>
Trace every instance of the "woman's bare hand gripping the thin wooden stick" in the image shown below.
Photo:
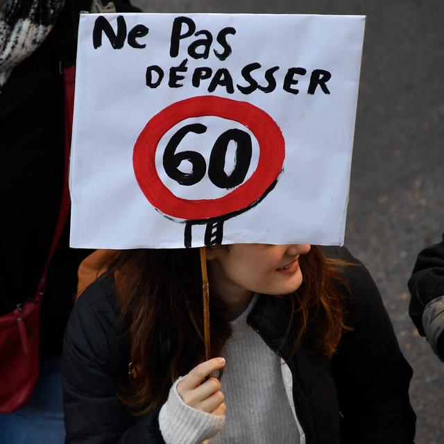
<svg viewBox="0 0 444 444"><path fill-rule="evenodd" d="M205 378L225 366L225 359L213 358L194 367L187 376L180 380L178 393L180 398L194 409L224 416L227 406L223 400L221 383L215 377ZM203 382L205 381L205 382Z"/></svg>

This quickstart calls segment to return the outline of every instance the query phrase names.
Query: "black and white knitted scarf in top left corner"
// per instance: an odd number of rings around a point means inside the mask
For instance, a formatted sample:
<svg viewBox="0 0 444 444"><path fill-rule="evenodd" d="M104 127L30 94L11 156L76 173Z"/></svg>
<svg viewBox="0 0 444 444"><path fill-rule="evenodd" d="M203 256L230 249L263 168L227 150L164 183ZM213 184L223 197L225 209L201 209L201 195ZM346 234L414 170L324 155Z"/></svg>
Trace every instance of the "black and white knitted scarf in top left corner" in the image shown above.
<svg viewBox="0 0 444 444"><path fill-rule="evenodd" d="M53 28L65 0L6 0L0 9L0 93L12 69Z"/></svg>

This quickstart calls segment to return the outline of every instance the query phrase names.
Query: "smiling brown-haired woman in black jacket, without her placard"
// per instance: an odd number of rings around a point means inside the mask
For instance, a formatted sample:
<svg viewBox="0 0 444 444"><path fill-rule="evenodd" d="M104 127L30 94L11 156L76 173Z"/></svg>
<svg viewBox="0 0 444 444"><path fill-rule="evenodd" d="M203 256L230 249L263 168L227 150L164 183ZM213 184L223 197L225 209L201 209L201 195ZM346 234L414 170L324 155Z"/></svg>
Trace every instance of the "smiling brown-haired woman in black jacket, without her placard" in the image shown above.
<svg viewBox="0 0 444 444"><path fill-rule="evenodd" d="M67 443L413 443L411 368L345 248L206 254L208 361L196 248L119 251L80 297L65 336Z"/></svg>

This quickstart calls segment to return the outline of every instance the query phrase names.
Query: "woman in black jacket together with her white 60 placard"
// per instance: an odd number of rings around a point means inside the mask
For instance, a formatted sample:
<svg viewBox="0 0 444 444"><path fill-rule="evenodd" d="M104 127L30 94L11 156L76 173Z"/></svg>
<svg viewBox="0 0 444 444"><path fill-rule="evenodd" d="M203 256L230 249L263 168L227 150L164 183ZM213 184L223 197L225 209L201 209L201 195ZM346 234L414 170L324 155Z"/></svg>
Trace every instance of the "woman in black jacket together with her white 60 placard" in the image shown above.
<svg viewBox="0 0 444 444"><path fill-rule="evenodd" d="M364 17L80 22L71 246L119 250L67 327L67 443L411 444L366 268L292 244L343 239Z"/></svg>

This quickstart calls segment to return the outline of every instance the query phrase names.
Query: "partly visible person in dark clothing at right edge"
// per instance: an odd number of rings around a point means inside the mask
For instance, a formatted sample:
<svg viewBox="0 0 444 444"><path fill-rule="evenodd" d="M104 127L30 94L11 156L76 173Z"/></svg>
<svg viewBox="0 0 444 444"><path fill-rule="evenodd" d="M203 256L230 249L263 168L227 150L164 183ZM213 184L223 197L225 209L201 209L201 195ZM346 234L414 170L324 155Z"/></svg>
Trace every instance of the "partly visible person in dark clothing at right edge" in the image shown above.
<svg viewBox="0 0 444 444"><path fill-rule="evenodd" d="M411 320L444 361L444 234L419 253L408 285Z"/></svg>

